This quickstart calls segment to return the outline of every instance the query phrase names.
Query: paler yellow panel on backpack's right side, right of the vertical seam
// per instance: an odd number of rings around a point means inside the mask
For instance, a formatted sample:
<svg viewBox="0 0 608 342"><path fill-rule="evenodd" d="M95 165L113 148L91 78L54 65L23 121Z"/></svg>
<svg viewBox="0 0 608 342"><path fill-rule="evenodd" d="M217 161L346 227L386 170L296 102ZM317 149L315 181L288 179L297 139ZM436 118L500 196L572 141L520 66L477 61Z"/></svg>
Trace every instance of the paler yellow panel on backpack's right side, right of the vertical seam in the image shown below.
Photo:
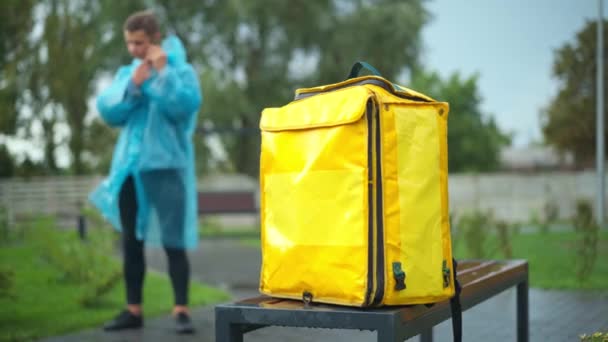
<svg viewBox="0 0 608 342"><path fill-rule="evenodd" d="M399 165L401 261L407 290L398 297L444 293L442 183L438 108L394 104Z"/></svg>

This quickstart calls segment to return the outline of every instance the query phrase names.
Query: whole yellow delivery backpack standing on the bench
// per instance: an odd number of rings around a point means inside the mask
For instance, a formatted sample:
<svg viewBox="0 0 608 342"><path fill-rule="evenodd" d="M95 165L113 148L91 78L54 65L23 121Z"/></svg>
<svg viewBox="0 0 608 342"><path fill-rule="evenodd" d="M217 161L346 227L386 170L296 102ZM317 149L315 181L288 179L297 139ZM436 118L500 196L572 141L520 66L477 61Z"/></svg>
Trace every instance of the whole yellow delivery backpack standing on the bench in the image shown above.
<svg viewBox="0 0 608 342"><path fill-rule="evenodd" d="M358 307L452 298L448 104L361 67L375 71L358 62L262 113L260 291Z"/></svg>

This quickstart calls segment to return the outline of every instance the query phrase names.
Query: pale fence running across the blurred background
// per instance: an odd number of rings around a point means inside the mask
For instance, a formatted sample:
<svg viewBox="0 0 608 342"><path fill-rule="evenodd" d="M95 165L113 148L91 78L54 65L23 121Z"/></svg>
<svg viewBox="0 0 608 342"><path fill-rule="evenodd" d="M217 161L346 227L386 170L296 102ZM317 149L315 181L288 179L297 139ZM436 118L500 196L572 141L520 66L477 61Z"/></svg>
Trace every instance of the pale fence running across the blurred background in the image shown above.
<svg viewBox="0 0 608 342"><path fill-rule="evenodd" d="M12 221L28 213L75 216L79 203L87 205L89 192L100 176L45 177L0 181L0 205ZM244 176L214 176L200 180L199 189L252 190L257 182ZM452 174L449 176L450 210L492 210L497 218L526 221L540 214L547 201L559 207L560 217L569 217L579 198L595 199L592 172L551 172L535 174Z"/></svg>

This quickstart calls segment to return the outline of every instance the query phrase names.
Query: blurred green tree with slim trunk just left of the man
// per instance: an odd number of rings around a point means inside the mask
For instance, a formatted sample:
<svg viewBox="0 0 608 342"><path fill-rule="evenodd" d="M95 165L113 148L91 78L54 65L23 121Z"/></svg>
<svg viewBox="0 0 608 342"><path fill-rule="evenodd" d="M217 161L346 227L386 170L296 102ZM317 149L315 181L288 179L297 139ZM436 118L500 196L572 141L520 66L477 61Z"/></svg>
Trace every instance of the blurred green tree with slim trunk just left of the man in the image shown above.
<svg viewBox="0 0 608 342"><path fill-rule="evenodd" d="M48 1L43 35L48 51L45 80L50 98L60 106L70 127L68 146L76 174L86 172L85 118L97 76L104 63L118 62L125 55L122 20L133 9L133 2L127 3L131 5L110 1Z"/></svg>

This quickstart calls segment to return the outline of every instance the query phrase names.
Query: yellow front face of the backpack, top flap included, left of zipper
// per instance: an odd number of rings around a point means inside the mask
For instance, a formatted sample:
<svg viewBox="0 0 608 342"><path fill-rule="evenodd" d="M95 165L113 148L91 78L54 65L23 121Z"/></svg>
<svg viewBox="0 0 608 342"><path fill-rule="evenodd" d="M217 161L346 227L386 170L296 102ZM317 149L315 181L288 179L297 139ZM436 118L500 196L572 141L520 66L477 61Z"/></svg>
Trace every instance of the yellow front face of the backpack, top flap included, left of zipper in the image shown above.
<svg viewBox="0 0 608 342"><path fill-rule="evenodd" d="M310 98L310 105L296 101L263 113L260 290L297 299L308 291L315 301L361 306L367 269L360 265L368 255L361 117L369 93L327 95L330 104Z"/></svg>

